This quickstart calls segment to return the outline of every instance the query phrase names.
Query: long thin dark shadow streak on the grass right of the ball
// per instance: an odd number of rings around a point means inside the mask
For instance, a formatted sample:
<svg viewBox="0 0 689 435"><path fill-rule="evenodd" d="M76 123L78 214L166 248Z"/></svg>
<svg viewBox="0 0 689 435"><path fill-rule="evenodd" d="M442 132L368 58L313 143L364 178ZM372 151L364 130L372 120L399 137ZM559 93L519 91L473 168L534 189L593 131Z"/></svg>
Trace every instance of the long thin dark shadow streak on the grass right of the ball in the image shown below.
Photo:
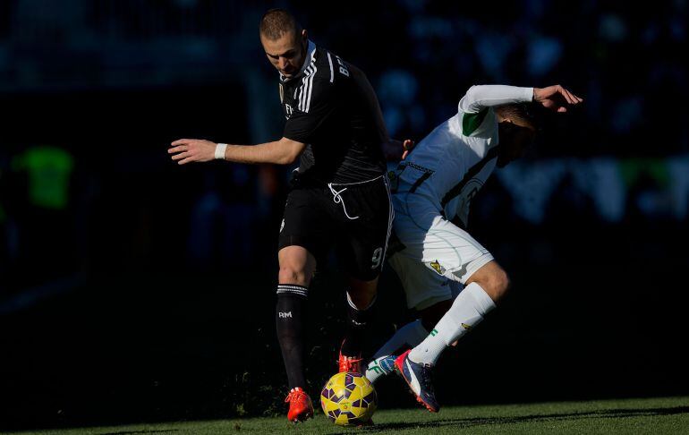
<svg viewBox="0 0 689 435"><path fill-rule="evenodd" d="M675 406L668 408L646 408L646 409L607 409L601 411L591 411L588 413L573 414L533 414L516 415L513 417L485 417L485 418L459 418L437 420L434 422L390 422L376 424L370 428L364 428L367 432L403 430L411 428L434 428L444 426L455 426L458 429L471 428L473 426L489 424L506 424L515 422L562 422L567 420L583 419L613 419L652 415L675 415L689 414L689 406Z"/></svg>

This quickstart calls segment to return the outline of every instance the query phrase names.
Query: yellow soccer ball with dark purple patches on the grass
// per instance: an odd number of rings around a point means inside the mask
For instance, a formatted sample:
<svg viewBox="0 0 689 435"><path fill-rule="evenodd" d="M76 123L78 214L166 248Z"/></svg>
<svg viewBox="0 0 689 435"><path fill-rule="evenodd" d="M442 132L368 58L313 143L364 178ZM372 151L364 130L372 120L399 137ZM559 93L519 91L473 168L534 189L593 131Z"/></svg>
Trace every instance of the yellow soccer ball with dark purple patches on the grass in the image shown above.
<svg viewBox="0 0 689 435"><path fill-rule="evenodd" d="M339 426L362 424L378 407L376 390L370 380L353 371L337 373L320 392L320 407Z"/></svg>

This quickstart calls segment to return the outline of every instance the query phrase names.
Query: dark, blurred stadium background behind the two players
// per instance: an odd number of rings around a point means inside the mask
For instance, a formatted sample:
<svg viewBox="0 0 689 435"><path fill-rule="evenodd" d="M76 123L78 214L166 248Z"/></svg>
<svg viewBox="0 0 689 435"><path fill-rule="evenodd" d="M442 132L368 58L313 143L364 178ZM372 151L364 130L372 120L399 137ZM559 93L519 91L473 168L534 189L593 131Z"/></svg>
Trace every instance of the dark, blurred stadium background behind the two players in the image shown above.
<svg viewBox="0 0 689 435"><path fill-rule="evenodd" d="M443 404L687 395L687 10L629 2L0 3L0 429L283 413L276 236L289 168L177 166L182 137L280 136L258 21L288 7L420 140L476 83L560 83L530 156L473 201L513 292L438 366ZM394 162L390 163L395 166ZM336 371L336 262L310 393ZM412 319L389 269L379 335ZM396 379L382 407L413 406Z"/></svg>

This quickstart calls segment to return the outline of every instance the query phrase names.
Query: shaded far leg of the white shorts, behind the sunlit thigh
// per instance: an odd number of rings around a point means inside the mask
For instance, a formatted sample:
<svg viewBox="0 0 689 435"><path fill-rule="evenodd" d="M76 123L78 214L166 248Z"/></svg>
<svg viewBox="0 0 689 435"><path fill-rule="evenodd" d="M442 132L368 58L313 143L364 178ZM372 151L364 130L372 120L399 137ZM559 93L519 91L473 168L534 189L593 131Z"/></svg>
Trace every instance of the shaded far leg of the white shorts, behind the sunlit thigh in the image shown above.
<svg viewBox="0 0 689 435"><path fill-rule="evenodd" d="M452 282L430 270L419 260L397 252L387 262L399 277L409 308L422 311L453 298Z"/></svg>

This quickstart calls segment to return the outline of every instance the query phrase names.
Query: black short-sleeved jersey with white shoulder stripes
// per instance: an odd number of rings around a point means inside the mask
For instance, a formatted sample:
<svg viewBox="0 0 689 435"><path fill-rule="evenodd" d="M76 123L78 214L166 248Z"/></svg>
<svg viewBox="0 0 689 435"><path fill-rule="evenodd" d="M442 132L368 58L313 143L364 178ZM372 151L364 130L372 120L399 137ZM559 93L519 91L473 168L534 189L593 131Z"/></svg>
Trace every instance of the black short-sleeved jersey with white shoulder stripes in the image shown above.
<svg viewBox="0 0 689 435"><path fill-rule="evenodd" d="M305 143L301 179L316 183L358 183L385 174L382 134L365 90L337 55L309 49L302 71L280 78L284 136Z"/></svg>

